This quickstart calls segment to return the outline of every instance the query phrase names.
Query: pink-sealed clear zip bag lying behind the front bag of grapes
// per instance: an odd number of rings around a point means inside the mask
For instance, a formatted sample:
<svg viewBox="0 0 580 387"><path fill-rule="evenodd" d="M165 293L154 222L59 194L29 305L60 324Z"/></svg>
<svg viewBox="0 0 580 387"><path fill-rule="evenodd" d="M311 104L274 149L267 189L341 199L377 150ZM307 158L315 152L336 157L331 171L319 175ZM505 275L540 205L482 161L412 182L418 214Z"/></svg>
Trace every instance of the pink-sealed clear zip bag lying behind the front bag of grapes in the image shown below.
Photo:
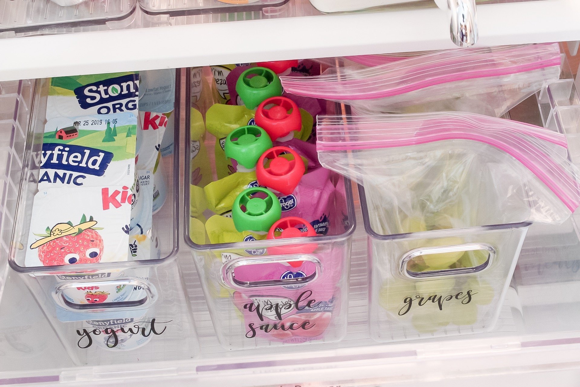
<svg viewBox="0 0 580 387"><path fill-rule="evenodd" d="M467 111L500 117L559 74L559 46L536 44L438 51L280 80L289 93L346 103L360 114Z"/></svg>

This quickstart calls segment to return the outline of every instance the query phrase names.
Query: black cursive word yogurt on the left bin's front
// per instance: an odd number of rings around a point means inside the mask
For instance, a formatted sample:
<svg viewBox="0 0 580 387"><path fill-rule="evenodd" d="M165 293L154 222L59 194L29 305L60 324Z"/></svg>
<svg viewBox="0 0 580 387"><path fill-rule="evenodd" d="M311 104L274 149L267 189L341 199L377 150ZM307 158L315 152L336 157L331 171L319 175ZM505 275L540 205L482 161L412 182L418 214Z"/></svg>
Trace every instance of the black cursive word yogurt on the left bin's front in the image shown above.
<svg viewBox="0 0 580 387"><path fill-rule="evenodd" d="M78 339L78 348L89 348L93 344L93 336L108 335L106 338L106 344L108 348L115 348L119 343L119 333L132 334L132 335L142 335L143 337L149 337L153 335L161 335L167 329L164 325L162 328L161 324L169 324L173 320L158 322L156 319L151 319L151 321L134 321L133 325L121 325L117 327L107 327L104 329L93 328L88 330L83 328L82 330L77 330L77 335L81 338Z"/></svg>

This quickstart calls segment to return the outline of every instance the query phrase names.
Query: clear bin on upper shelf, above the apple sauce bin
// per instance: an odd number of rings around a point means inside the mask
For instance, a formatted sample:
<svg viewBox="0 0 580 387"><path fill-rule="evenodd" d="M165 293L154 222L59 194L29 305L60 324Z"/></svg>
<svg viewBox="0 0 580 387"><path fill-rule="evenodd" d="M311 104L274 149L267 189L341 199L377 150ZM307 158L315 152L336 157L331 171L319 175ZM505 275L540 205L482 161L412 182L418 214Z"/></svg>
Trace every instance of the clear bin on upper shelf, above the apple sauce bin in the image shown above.
<svg viewBox="0 0 580 387"><path fill-rule="evenodd" d="M279 7L290 0L139 0L147 15L189 16L211 13L253 12Z"/></svg>

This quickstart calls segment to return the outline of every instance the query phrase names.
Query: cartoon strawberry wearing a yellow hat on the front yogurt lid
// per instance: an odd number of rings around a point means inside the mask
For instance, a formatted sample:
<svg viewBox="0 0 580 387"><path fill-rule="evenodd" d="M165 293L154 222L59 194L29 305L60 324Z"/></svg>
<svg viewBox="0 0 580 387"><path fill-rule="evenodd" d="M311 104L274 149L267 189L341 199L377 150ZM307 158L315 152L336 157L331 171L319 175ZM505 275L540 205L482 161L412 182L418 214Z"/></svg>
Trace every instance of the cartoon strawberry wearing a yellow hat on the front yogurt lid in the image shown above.
<svg viewBox="0 0 580 387"><path fill-rule="evenodd" d="M34 234L41 239L30 245L38 248L38 258L44 266L73 265L75 263L100 262L103 256L103 238L95 227L97 222L83 214L81 222L58 223L52 229L46 227L46 234ZM105 297L106 298L106 297Z"/></svg>

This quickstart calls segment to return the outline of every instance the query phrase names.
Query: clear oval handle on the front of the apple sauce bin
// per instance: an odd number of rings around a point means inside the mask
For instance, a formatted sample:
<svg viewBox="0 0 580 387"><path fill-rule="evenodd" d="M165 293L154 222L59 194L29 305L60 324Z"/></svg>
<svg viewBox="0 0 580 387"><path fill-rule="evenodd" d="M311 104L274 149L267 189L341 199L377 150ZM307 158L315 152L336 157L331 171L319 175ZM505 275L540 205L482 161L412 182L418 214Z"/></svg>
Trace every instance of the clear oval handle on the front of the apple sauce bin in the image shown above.
<svg viewBox="0 0 580 387"><path fill-rule="evenodd" d="M314 263L316 270L314 273L305 277L288 278L288 279L273 279L273 280L258 280L258 281L240 281L235 278L234 270L240 266L246 265L265 265L268 263L289 263L308 261ZM256 287L280 287L284 285L304 285L310 283L318 278L322 273L322 263L318 258L312 255L272 255L272 256L258 256L258 257L241 257L231 259L222 266L222 282L232 289L248 289Z"/></svg>

